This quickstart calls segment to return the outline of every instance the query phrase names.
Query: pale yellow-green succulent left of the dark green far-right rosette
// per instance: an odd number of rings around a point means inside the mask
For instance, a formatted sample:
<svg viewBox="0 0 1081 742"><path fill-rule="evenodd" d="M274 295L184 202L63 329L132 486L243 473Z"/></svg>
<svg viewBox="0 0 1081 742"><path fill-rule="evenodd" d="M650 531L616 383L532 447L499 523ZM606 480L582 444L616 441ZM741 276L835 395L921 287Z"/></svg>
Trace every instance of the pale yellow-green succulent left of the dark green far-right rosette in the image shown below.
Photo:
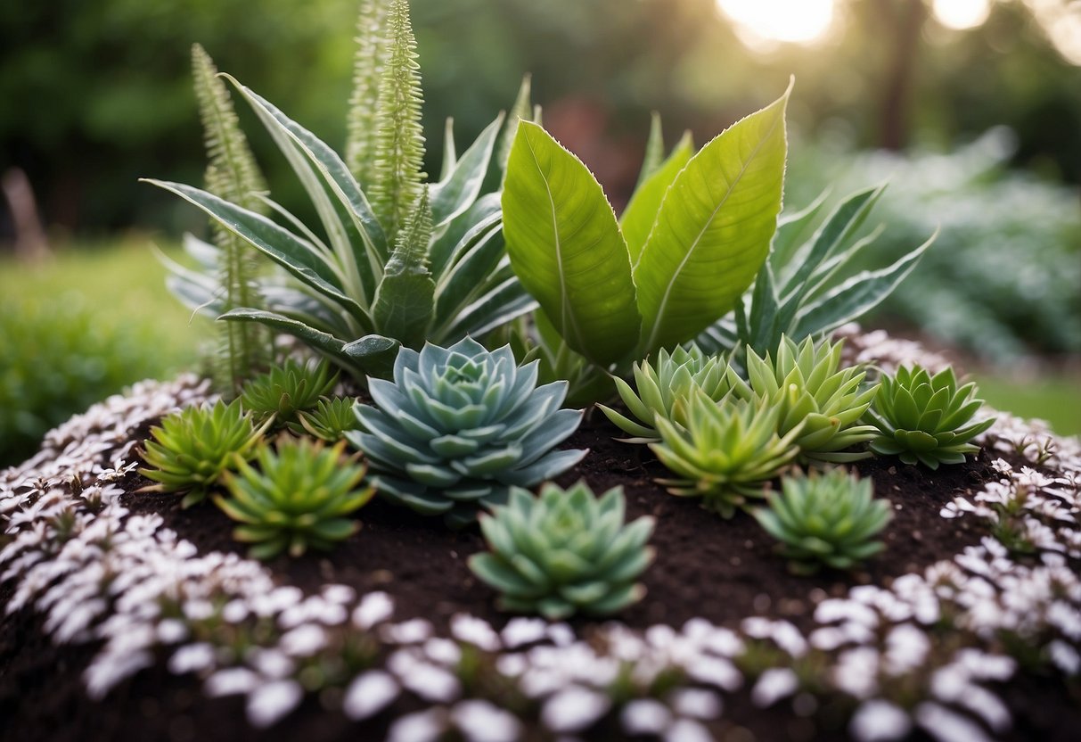
<svg viewBox="0 0 1081 742"><path fill-rule="evenodd" d="M749 384L729 369L733 394L763 399L779 411L778 434L786 435L802 423L796 443L805 460L841 463L871 455L845 449L875 437L875 428L859 424L859 419L878 385L860 388L866 373L855 367L840 368L842 346L843 342L815 345L812 337L797 346L782 335L777 350L765 358L747 348Z"/></svg>

